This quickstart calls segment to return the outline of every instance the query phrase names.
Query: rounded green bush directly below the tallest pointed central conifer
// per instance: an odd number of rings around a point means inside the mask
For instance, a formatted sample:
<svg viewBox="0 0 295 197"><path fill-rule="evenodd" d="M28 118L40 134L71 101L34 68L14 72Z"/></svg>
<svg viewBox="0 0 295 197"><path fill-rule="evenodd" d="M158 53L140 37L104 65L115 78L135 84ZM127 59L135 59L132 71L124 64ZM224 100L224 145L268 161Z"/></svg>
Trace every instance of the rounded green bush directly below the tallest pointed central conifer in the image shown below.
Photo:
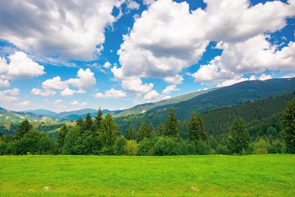
<svg viewBox="0 0 295 197"><path fill-rule="evenodd" d="M159 137L154 149L157 156L181 155L180 144L174 137Z"/></svg>

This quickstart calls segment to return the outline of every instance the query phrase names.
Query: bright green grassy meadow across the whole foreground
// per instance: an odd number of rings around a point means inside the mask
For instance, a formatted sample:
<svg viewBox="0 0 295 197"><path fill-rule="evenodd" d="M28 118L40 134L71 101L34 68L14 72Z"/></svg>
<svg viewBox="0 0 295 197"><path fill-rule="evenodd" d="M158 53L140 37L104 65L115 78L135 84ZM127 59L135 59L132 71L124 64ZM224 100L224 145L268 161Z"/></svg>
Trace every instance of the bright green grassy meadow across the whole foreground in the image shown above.
<svg viewBox="0 0 295 197"><path fill-rule="evenodd" d="M295 155L0 156L0 196L295 195Z"/></svg>

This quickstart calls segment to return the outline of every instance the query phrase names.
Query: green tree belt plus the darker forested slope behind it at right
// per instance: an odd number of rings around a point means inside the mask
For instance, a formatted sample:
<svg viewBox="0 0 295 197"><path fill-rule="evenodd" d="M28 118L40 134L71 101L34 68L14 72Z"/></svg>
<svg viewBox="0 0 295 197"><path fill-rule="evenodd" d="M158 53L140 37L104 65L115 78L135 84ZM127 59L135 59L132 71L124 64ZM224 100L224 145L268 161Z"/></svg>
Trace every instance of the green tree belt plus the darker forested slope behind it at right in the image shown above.
<svg viewBox="0 0 295 197"><path fill-rule="evenodd" d="M0 132L0 155L294 154L294 96L295 92L202 114L193 112L183 122L178 121L172 107L156 129L142 122L138 131L130 125L124 135L120 135L113 115L103 115L100 109L94 118L89 113L85 120L79 118L72 128L63 124L57 138L52 139L24 120L14 135Z"/></svg>

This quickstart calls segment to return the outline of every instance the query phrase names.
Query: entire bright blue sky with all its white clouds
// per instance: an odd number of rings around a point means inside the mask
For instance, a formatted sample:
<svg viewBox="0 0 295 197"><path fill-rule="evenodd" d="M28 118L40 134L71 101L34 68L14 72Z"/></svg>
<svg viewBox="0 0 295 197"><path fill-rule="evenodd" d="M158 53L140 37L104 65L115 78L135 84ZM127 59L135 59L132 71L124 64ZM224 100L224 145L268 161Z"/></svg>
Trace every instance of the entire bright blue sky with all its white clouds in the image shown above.
<svg viewBox="0 0 295 197"><path fill-rule="evenodd" d="M295 0L2 4L0 106L10 110L117 110L295 76Z"/></svg>

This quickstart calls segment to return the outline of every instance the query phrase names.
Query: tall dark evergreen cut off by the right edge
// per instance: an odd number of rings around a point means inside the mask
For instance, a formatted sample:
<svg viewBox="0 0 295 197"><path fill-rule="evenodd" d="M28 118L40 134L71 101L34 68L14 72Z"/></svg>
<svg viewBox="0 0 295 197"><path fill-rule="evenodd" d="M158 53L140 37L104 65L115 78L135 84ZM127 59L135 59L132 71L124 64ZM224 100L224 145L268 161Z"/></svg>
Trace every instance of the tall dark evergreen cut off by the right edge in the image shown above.
<svg viewBox="0 0 295 197"><path fill-rule="evenodd" d="M282 113L281 117L283 138L288 153L295 154L295 99L293 99Z"/></svg>

